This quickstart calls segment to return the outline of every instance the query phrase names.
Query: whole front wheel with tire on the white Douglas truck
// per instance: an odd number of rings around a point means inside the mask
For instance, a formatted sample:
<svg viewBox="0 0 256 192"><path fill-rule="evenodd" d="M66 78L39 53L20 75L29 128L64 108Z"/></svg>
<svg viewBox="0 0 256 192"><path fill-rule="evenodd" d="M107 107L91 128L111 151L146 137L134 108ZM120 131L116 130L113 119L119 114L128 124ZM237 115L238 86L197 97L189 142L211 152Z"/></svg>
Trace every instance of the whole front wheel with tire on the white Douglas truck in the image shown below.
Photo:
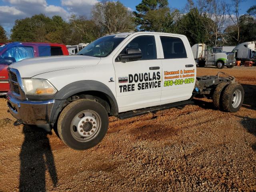
<svg viewBox="0 0 256 192"><path fill-rule="evenodd" d="M96 146L108 130L108 113L96 101L79 99L68 104L58 119L61 140L75 150Z"/></svg>

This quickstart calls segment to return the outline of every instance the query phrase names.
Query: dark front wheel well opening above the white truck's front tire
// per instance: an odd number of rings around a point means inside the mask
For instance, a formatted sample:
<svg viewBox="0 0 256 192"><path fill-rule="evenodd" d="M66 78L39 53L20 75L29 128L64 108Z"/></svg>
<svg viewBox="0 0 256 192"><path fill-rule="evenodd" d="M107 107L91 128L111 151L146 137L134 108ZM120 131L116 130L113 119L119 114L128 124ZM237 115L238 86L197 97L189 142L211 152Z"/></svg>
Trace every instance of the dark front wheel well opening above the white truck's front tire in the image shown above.
<svg viewBox="0 0 256 192"><path fill-rule="evenodd" d="M71 97L67 98L67 103L70 103L77 99L95 100L106 109L108 114L114 115L116 113L115 108L112 104L111 98L105 93L102 93L100 91L85 91L85 92L74 94Z"/></svg>

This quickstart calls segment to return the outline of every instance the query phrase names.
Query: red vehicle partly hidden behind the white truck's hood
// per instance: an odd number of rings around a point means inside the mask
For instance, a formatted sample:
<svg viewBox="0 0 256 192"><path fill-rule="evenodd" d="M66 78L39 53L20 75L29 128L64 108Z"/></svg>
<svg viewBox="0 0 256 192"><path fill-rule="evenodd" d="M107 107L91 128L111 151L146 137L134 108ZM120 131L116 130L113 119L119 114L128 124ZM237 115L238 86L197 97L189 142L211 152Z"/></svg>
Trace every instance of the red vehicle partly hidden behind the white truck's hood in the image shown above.
<svg viewBox="0 0 256 192"><path fill-rule="evenodd" d="M27 58L57 55L68 55L65 45L20 42L0 44L0 95L5 95L10 89L7 72L9 64Z"/></svg>

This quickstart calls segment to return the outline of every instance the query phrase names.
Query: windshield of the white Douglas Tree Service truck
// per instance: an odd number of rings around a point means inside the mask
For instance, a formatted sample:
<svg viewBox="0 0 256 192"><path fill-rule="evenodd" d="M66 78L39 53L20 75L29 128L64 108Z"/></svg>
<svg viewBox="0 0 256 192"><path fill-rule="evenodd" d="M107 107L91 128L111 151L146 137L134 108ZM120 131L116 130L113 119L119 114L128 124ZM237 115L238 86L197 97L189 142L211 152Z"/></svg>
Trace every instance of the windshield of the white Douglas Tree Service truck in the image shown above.
<svg viewBox="0 0 256 192"><path fill-rule="evenodd" d="M106 57L108 56L119 44L122 42L126 36L105 36L95 40L88 46L83 48L78 55L87 55L93 57Z"/></svg>

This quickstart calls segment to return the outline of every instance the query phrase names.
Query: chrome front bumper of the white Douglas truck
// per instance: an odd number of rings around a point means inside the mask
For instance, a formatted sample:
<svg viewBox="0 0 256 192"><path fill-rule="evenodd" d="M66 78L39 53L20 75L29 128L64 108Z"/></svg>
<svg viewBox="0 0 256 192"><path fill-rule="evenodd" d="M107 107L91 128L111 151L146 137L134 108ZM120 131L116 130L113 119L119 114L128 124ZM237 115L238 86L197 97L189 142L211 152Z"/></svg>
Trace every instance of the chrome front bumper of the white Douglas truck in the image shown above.
<svg viewBox="0 0 256 192"><path fill-rule="evenodd" d="M23 124L36 125L51 130L50 116L54 100L30 101L15 98L9 91L6 96L8 108L12 116L22 120Z"/></svg>

